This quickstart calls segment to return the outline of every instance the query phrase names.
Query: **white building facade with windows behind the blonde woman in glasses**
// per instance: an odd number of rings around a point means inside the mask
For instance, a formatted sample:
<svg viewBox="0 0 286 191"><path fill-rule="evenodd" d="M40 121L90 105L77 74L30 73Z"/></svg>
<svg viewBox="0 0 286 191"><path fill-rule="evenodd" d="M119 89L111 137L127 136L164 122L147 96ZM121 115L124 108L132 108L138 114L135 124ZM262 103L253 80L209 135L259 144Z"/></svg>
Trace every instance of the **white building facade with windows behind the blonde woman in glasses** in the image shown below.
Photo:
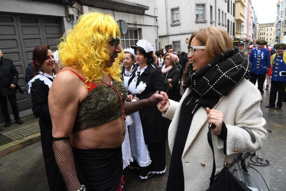
<svg viewBox="0 0 286 191"><path fill-rule="evenodd" d="M187 52L194 31L206 26L220 27L234 36L234 3L230 0L157 0L160 48L172 44L175 51Z"/></svg>

